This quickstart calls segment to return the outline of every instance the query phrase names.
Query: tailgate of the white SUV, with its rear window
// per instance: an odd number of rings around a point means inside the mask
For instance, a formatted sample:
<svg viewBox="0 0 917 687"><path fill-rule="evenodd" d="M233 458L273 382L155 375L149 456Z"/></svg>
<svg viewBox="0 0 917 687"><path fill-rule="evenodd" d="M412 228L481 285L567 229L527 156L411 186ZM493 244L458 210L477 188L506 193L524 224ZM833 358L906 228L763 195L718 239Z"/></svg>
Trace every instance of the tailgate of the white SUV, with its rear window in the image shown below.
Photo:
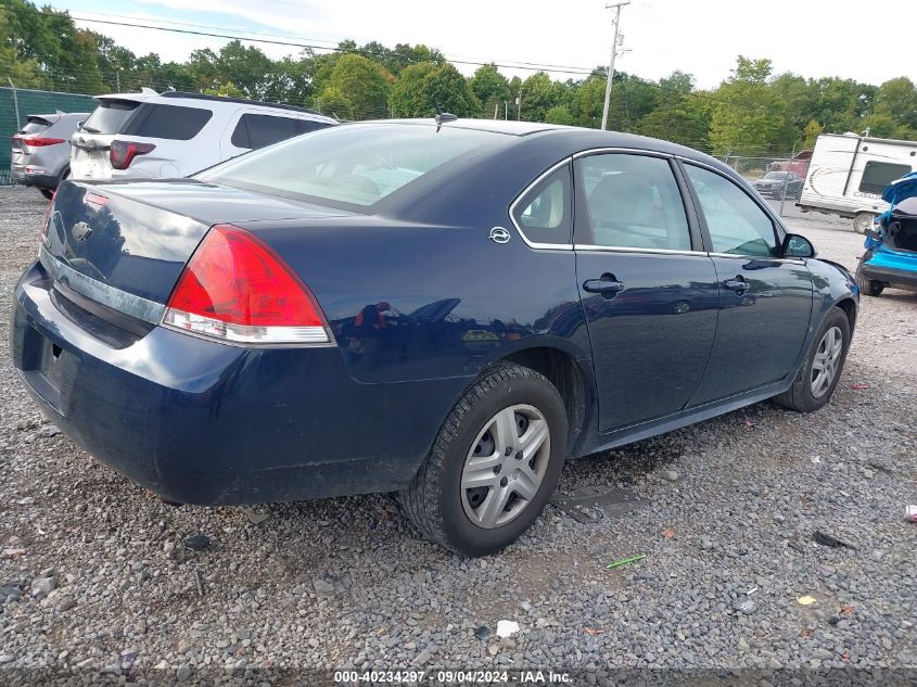
<svg viewBox="0 0 917 687"><path fill-rule="evenodd" d="M124 98L100 98L99 106L71 137L71 177L74 179L110 179L112 165L109 150L116 133L140 106L140 101Z"/></svg>

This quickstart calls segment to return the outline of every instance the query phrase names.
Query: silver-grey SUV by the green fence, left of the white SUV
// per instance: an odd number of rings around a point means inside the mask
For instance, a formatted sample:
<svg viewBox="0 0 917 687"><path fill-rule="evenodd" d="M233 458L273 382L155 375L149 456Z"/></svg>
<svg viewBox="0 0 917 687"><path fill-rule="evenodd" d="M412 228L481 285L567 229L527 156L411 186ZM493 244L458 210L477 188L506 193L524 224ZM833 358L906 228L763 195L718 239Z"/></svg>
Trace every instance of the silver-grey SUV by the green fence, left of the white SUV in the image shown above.
<svg viewBox="0 0 917 687"><path fill-rule="evenodd" d="M69 176L69 139L88 116L86 112L28 115L26 125L13 136L13 182L35 187L50 199Z"/></svg>

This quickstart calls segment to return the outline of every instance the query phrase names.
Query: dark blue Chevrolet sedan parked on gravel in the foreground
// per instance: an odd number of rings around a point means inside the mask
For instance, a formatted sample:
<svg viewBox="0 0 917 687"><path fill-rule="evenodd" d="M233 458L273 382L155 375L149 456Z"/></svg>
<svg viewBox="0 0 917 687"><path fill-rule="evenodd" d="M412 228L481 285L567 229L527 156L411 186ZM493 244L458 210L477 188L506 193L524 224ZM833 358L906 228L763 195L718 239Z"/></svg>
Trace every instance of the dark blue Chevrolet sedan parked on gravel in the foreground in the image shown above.
<svg viewBox="0 0 917 687"><path fill-rule="evenodd" d="M386 122L64 183L12 351L53 422L168 500L399 492L426 536L484 555L568 457L825 405L857 302L696 151Z"/></svg>

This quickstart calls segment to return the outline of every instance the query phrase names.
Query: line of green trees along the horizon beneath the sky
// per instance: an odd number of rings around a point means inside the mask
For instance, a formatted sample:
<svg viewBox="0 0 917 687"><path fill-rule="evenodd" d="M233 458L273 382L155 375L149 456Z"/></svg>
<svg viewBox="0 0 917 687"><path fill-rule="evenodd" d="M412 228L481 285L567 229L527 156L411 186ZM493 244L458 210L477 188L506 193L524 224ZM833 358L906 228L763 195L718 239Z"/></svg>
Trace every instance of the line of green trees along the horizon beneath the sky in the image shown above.
<svg viewBox="0 0 917 687"><path fill-rule="evenodd" d="M77 28L67 12L0 0L0 78L20 88L81 93L141 87L235 96L314 107L341 119L432 116L521 118L598 128L608 72L578 79L546 72L508 78L496 64L466 77L435 48L343 41L273 60L231 40L184 62L138 55ZM820 132L917 138L917 88L905 77L879 86L840 77L774 74L767 59L739 56L730 76L699 89L679 71L658 82L615 74L609 128L663 138L715 155L774 155L811 148Z"/></svg>

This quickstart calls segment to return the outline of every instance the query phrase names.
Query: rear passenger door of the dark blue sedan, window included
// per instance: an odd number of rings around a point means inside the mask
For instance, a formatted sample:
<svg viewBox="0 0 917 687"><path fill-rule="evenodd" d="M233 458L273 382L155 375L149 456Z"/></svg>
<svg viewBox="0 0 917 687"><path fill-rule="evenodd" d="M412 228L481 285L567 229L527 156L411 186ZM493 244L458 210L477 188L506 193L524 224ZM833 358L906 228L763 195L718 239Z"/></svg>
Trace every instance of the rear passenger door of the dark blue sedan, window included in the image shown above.
<svg viewBox="0 0 917 687"><path fill-rule="evenodd" d="M575 252L599 430L683 409L716 331L716 271L673 161L597 153L575 162Z"/></svg>

